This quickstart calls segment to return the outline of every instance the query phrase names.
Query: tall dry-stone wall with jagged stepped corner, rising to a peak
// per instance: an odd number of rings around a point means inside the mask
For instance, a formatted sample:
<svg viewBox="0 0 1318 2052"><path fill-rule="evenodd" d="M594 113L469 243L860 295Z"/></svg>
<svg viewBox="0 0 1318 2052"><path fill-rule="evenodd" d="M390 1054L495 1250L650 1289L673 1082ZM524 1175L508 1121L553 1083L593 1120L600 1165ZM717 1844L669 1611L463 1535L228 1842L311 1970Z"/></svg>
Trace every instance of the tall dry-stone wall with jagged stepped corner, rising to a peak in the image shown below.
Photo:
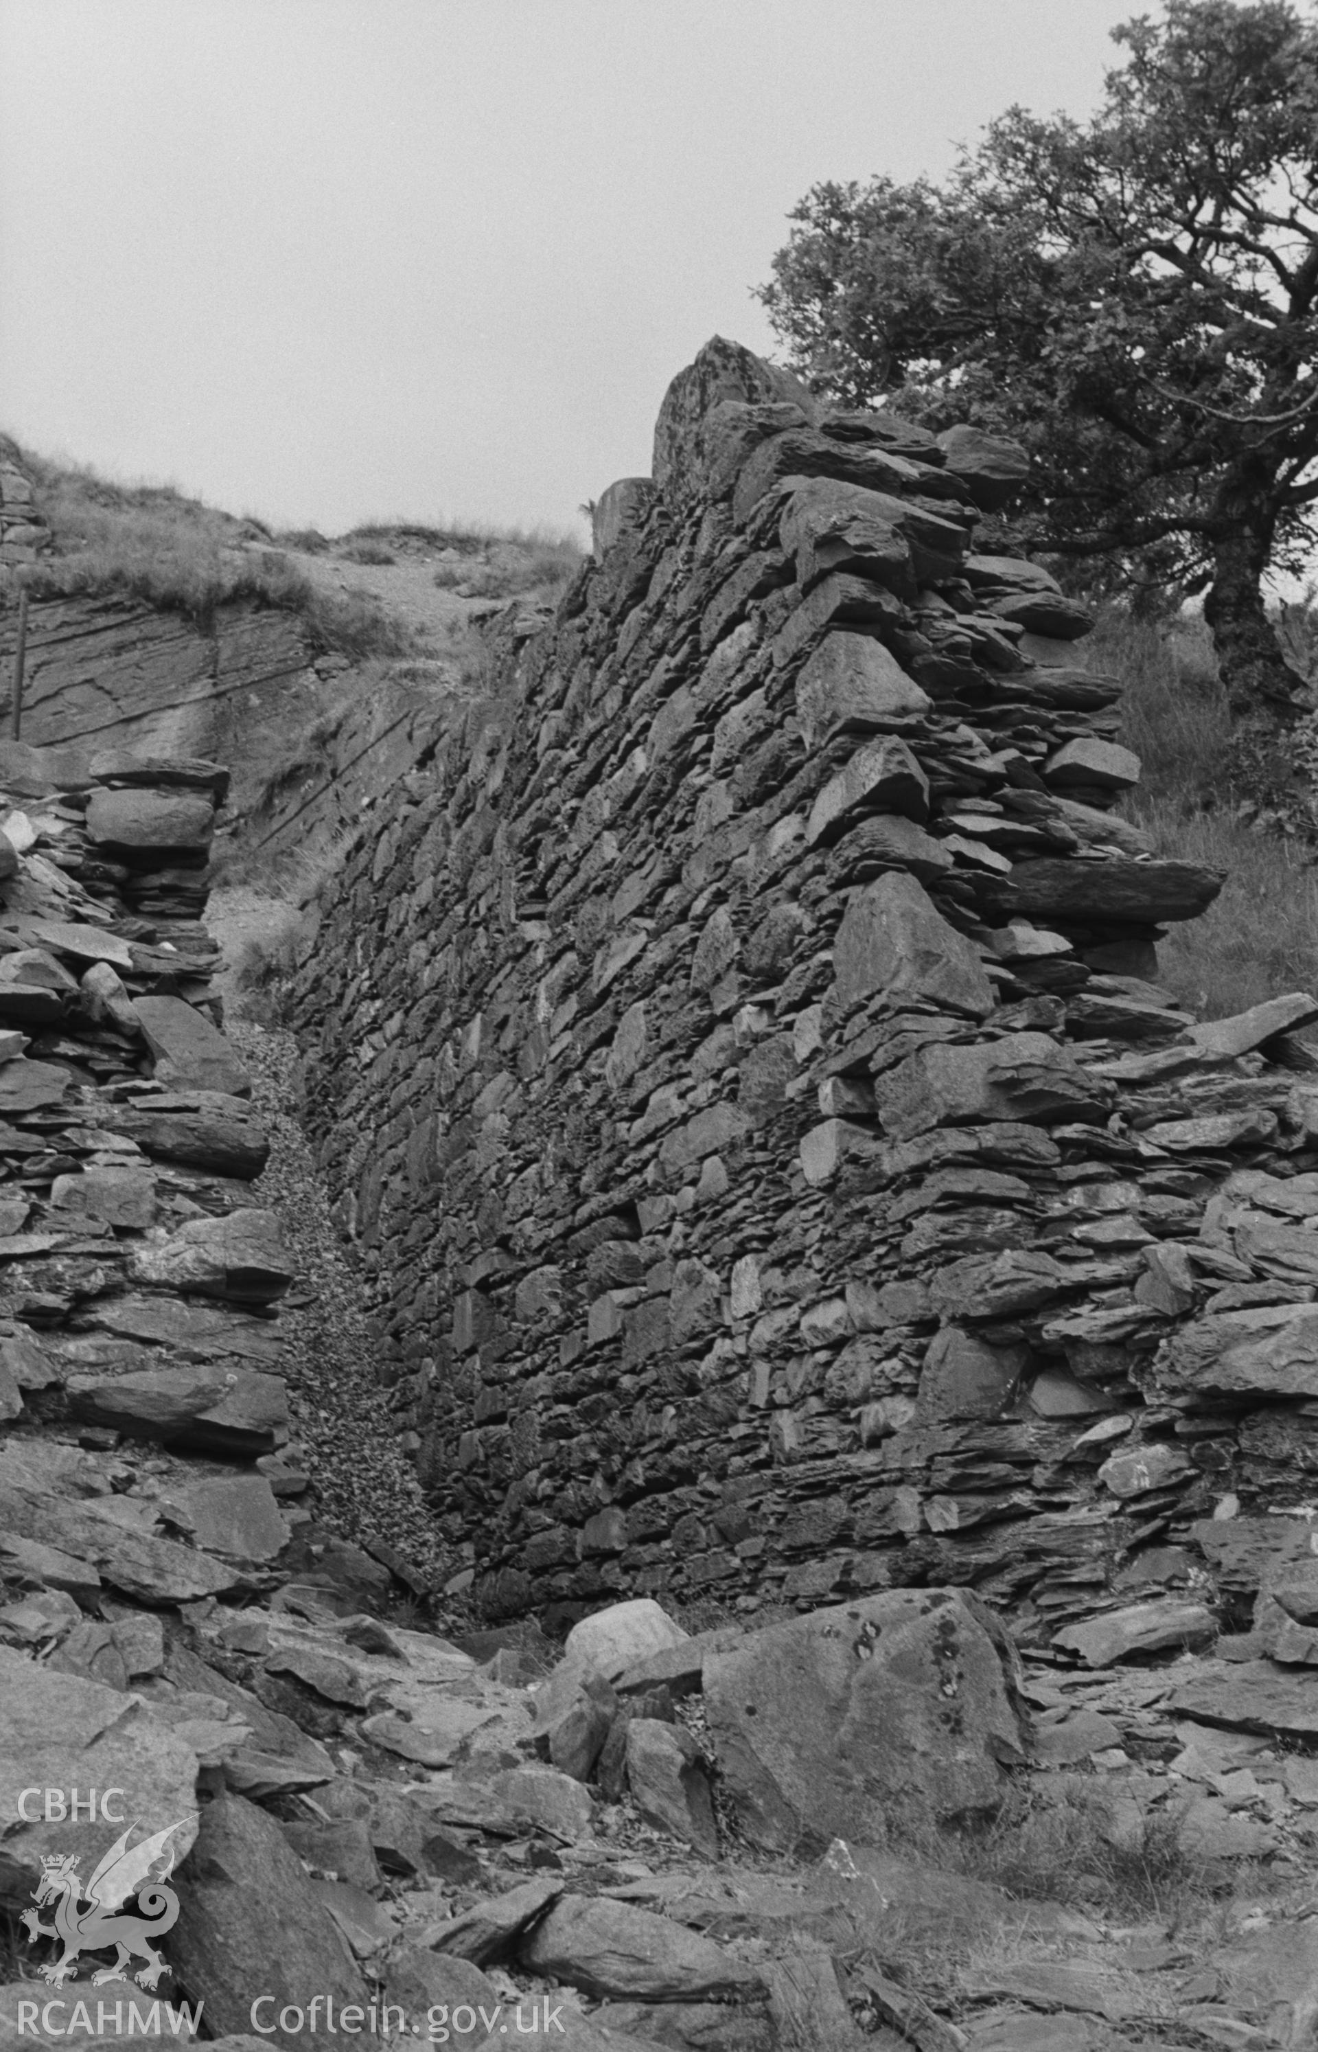
<svg viewBox="0 0 1318 2052"><path fill-rule="evenodd" d="M326 886L310 1116L490 1615L974 1584L1043 1646L1230 1607L1308 1490L1318 1005L1148 981L1220 878L976 544L1019 476L711 343Z"/></svg>

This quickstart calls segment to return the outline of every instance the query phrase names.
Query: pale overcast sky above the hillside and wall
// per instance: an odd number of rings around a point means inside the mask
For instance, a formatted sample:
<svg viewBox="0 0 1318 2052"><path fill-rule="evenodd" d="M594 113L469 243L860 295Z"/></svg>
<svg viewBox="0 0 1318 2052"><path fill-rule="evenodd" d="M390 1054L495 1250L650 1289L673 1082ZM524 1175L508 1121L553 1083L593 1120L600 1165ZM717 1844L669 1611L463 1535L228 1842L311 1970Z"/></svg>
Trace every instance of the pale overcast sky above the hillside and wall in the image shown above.
<svg viewBox="0 0 1318 2052"><path fill-rule="evenodd" d="M1156 10L1156 8L1152 8ZM1134 0L0 0L0 425L334 534L566 527L818 179L1086 113Z"/></svg>

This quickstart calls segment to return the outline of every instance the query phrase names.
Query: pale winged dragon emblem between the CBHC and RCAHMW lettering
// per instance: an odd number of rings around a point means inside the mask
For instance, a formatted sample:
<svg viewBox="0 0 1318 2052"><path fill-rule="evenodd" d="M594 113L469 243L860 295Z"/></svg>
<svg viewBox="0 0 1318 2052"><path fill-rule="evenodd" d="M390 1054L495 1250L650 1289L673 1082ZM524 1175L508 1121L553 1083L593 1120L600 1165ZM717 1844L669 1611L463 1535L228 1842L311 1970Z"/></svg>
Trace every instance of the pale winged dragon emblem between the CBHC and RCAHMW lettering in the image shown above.
<svg viewBox="0 0 1318 2052"><path fill-rule="evenodd" d="M129 1824L123 1837L115 1839L86 1888L78 1873L76 1853L49 1853L41 1861L41 1880L33 1890L33 1900L37 1906L53 1902L55 1921L43 1925L37 1910L25 1910L20 1923L29 1939L53 1937L64 1943L59 1960L41 1968L51 1986L61 1988L66 1980L76 1980L78 1954L100 1951L102 1945L115 1945L117 1956L113 1966L102 1966L100 1972L92 1974L92 1986L102 1980L123 1980L133 1958L146 1962L141 1972L133 1974L139 1988L154 1988L160 1980L164 1960L150 1941L164 1937L178 1923L178 1896L164 1886L174 1871L174 1853L166 1851L166 1839L178 1830L178 1824L166 1824L164 1830L129 1851L133 1828ZM146 1888L146 1882L152 1886ZM137 1896L141 1917L117 1915L131 1896ZM88 1906L78 1908L80 1902ZM152 1923L143 1923L146 1917Z"/></svg>

